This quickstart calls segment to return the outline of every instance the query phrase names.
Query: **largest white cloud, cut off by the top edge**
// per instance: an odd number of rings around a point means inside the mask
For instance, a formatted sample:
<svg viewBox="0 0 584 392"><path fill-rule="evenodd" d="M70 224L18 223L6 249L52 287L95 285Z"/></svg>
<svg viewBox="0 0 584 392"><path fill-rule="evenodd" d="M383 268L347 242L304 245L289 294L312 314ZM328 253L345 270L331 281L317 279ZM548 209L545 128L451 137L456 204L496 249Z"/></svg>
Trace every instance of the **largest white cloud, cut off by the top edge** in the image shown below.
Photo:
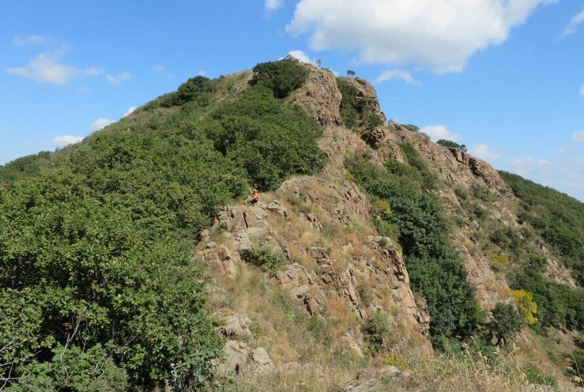
<svg viewBox="0 0 584 392"><path fill-rule="evenodd" d="M360 61L462 71L502 43L540 4L555 0L300 0L286 30L313 50L356 51ZM456 26L456 27L453 27Z"/></svg>

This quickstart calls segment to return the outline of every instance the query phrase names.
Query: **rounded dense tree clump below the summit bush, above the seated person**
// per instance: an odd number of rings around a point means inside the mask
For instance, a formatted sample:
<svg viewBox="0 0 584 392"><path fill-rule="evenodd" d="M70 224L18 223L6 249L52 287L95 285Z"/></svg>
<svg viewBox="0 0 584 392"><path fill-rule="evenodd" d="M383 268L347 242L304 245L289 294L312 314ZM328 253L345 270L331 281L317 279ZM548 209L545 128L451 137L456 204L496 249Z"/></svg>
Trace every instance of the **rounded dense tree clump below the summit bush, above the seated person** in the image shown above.
<svg viewBox="0 0 584 392"><path fill-rule="evenodd" d="M244 168L259 190L274 190L291 174L310 174L324 165L315 139L317 122L298 106L283 105L264 86L245 90L203 124L213 146Z"/></svg>

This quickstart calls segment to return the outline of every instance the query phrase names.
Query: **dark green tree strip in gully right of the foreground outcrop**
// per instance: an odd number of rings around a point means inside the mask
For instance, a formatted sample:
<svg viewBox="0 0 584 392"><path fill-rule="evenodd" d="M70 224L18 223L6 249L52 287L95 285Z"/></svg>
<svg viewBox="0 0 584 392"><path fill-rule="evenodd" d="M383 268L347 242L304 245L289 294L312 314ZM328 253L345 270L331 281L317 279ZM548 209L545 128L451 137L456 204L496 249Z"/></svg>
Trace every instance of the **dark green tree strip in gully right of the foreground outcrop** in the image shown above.
<svg viewBox="0 0 584 392"><path fill-rule="evenodd" d="M484 314L474 297L474 288L466 280L460 257L450 244L446 220L436 197L426 192L426 166L409 152L416 166L396 161L386 162L380 170L366 157L346 159L345 166L356 182L374 198L386 201L391 214L380 214L374 225L381 232L395 227L401 244L412 289L424 296L430 312L430 334L437 347L445 338L469 337L482 322ZM422 161L423 162L423 161Z"/></svg>

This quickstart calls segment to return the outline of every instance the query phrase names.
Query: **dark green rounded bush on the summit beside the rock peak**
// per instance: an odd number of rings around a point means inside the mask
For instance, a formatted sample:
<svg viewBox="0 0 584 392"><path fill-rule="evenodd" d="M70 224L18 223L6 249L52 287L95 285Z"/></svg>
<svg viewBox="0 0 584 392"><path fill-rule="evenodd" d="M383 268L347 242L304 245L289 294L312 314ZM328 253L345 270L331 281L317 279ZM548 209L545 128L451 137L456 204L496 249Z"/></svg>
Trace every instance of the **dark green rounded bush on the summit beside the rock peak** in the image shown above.
<svg viewBox="0 0 584 392"><path fill-rule="evenodd" d="M276 98L285 98L302 86L307 76L308 69L296 58L287 56L283 60L262 62L253 67L251 83L266 86Z"/></svg>

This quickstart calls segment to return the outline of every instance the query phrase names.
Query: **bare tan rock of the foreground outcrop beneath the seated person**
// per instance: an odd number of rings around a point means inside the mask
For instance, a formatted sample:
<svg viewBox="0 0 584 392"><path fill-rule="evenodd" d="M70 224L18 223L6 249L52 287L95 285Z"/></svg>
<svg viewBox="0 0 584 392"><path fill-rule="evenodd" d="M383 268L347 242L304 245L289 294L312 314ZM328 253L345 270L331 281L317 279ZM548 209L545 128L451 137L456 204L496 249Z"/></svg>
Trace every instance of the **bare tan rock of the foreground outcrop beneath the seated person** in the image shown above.
<svg viewBox="0 0 584 392"><path fill-rule="evenodd" d="M240 257L242 253L254 247L269 247L285 260L269 280L270 284L286 290L294 303L311 317L321 317L323 309L335 309L339 314L346 314L344 317L364 320L367 314L381 311L399 331L398 345L413 339L430 351L425 337L429 328L427 309L423 303L416 303L402 255L389 239L367 237L363 233L358 243L332 238L325 248L304 247L298 241L288 242L279 234L292 227L301 228L298 237L319 236L324 226L369 227L370 204L366 195L349 181L332 184L315 177L288 180L277 195L301 199L304 207L297 211L296 207L290 209L281 201L262 201L261 196L255 205L225 206L211 230L221 230L223 239L209 243L193 258L204 261L215 276L234 278L239 268L248 268ZM309 210L312 212L306 212ZM296 250L294 260L290 256L292 246ZM338 260L339 256L343 261ZM246 335L248 325L249 320L234 314L225 317L222 331L230 337ZM345 348L361 354L364 342L360 328L343 332L339 341Z"/></svg>

